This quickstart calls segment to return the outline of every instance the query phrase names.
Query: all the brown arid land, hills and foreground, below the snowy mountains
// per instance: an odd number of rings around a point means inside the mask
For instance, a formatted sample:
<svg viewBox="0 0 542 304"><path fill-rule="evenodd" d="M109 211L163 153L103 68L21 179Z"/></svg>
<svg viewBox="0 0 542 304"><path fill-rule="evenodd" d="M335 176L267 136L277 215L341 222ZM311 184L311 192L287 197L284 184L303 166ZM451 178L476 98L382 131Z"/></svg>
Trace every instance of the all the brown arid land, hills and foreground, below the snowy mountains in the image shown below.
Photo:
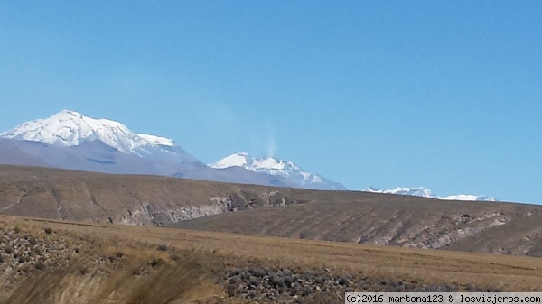
<svg viewBox="0 0 542 304"><path fill-rule="evenodd" d="M0 167L4 303L537 290L542 208Z"/></svg>

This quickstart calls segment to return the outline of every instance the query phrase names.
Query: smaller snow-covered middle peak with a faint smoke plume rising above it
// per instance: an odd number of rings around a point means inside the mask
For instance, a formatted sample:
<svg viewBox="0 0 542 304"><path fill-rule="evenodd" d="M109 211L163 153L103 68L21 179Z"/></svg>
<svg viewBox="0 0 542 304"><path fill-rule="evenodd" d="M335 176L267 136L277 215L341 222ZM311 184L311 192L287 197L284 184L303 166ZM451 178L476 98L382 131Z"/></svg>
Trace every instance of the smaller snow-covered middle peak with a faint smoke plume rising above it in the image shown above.
<svg viewBox="0 0 542 304"><path fill-rule="evenodd" d="M345 189L340 183L324 179L318 174L309 173L292 161L278 160L269 156L252 158L248 153L240 152L211 163L209 166L215 169L241 167L257 173L280 176L292 180L297 186L306 189Z"/></svg>

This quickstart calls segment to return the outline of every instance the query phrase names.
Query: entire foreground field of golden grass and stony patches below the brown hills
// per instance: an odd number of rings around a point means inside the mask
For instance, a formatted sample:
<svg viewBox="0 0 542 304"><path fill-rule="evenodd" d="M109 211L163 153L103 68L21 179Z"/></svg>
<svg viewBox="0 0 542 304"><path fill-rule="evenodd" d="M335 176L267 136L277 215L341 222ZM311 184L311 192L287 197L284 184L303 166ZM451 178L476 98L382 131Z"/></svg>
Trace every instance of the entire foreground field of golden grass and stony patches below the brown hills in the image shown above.
<svg viewBox="0 0 542 304"><path fill-rule="evenodd" d="M341 303L542 286L542 259L0 216L3 303Z"/></svg>

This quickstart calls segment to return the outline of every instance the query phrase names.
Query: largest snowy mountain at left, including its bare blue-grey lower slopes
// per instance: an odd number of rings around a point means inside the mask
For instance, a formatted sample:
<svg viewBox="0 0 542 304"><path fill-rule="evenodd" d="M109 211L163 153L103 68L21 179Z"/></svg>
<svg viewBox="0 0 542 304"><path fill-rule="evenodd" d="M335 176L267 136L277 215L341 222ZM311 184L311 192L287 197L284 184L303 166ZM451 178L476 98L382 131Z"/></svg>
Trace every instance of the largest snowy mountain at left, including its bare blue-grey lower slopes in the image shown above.
<svg viewBox="0 0 542 304"><path fill-rule="evenodd" d="M210 168L172 139L136 134L116 121L69 110L1 133L0 164L296 187L280 176Z"/></svg>

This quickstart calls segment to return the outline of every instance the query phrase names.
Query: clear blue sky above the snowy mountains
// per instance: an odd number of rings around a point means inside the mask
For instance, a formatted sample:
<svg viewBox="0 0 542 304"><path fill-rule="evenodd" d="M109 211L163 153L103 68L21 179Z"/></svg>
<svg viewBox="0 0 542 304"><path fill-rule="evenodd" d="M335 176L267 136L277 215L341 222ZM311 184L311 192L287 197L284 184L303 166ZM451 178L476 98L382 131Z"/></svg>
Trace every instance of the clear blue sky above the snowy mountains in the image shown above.
<svg viewBox="0 0 542 304"><path fill-rule="evenodd" d="M204 162L542 203L540 1L0 0L0 130L71 109Z"/></svg>

